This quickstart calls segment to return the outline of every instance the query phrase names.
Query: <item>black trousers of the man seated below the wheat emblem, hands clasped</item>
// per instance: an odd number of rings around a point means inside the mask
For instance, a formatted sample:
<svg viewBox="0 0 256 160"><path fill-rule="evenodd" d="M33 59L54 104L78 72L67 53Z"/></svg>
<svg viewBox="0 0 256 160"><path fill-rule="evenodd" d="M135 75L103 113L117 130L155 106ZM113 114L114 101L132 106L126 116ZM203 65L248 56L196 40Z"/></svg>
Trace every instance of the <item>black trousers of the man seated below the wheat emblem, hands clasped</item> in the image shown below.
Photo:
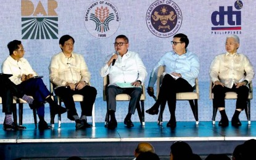
<svg viewBox="0 0 256 160"><path fill-rule="evenodd" d="M83 95L83 102L81 104L81 115L91 116L93 111L93 103L95 102L97 90L91 86L85 86L80 90L71 90L67 87L58 87L54 90L55 94L62 98L65 107L68 109L68 119L74 120L72 116L78 115L73 100L74 94Z"/></svg>

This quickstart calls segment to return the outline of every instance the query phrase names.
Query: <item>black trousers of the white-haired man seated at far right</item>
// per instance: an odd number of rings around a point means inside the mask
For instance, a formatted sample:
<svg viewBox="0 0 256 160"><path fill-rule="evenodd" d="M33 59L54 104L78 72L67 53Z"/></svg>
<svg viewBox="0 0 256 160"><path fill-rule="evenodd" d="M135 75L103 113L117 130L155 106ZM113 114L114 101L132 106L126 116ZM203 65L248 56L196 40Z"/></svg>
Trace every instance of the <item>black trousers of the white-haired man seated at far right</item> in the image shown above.
<svg viewBox="0 0 256 160"><path fill-rule="evenodd" d="M236 92L236 109L242 109L247 107L247 99L249 95L249 88L247 86L241 86L236 88L236 85L233 85L231 89L228 87L222 87L221 85L214 86L212 89L213 92L213 106L216 108L225 107L225 93L226 92Z"/></svg>

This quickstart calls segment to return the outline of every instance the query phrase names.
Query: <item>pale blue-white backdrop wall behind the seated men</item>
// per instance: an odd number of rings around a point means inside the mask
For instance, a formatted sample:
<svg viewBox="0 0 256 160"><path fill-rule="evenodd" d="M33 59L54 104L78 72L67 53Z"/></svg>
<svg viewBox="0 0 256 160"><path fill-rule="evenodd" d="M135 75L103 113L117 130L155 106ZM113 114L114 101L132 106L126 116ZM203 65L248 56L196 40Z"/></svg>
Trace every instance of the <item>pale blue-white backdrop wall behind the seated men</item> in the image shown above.
<svg viewBox="0 0 256 160"><path fill-rule="evenodd" d="M22 7L22 4L26 4ZM101 2L104 2L101 5ZM107 2L107 4L105 4ZM147 12L150 7L175 2L181 11L182 22L177 33L184 33L189 38L188 49L196 53L200 60L200 100L199 100L199 121L211 121L212 118L212 101L209 100L209 66L215 55L225 52L225 39L228 34L236 33L241 39L239 52L246 54L253 65L255 65L255 3L254 0L248 1L192 1L192 0L175 0L175 1L83 1L83 0L1 0L0 2L0 62L9 55L7 43L14 39L22 41L25 47L25 58L31 63L31 66L39 75L43 75L46 86L49 86L48 65L53 54L60 51L59 38L64 34L70 34L75 39L75 52L85 56L86 63L91 71L91 83L97 89L96 99L96 122L103 122L105 118L106 104L102 100L102 78L99 76L99 70L105 56L114 52L113 42L119 34L125 34L130 39L130 50L138 52L146 65L150 75L152 68L159 58L171 50L170 41L173 36L161 38L151 33L146 23ZM238 3L237 3L238 2ZM240 8L236 8L237 4L241 4ZM28 5L29 4L29 5ZM49 6L48 6L49 5ZM91 9L90 6L92 6ZM94 31L96 26L91 20L90 23L85 22L86 12L93 13L96 7L107 7L110 13L114 13L114 20L109 22L109 31L97 33ZM241 27L233 30L212 31L214 26L212 23L212 14L220 12L220 7L224 7L225 11L231 7L241 17L236 15L223 15L215 18L217 22L224 20L224 25L230 27ZM161 7L161 6L160 6ZM174 7L174 6L173 6ZM154 7L153 7L154 8ZM162 6L163 8L163 6ZM88 10L89 9L89 10ZM23 10L23 12L22 12ZM45 10L45 12L43 12ZM40 12L39 12L40 11ZM48 12L49 11L49 12ZM53 12L54 11L54 12ZM162 11L162 12L160 12ZM159 10L159 14L164 14L164 10ZM230 11L230 10L229 10ZM24 13L27 13L25 15ZM33 15L35 13L35 15ZM229 14L232 12L228 12ZM58 39L24 39L22 30L25 30L26 22L22 22L22 18L57 18L57 20L49 20L49 22L57 25L54 35ZM230 20L234 24L230 23ZM241 24L239 24L241 20ZM23 26L24 25L24 26ZM32 26L32 25L31 25ZM39 27L39 26L38 26ZM38 28L38 31L43 30ZM49 31L49 30L48 30ZM103 37L97 37L103 34ZM39 34L41 35L41 33ZM146 86L149 81L149 75L146 79ZM255 84L255 79L253 80ZM255 93L254 93L255 94ZM153 98L147 95L145 109L147 110L154 104ZM77 104L78 111L80 106ZM228 116L234 112L235 101L231 100L226 103ZM28 106L25 108L26 116L24 122L33 122L33 116ZM118 102L117 118L123 121L128 110L127 102ZM252 120L256 119L255 99L252 100ZM28 116L27 116L28 115ZM164 121L168 121L170 113L165 110ZM2 120L4 116L0 116ZM63 116L64 117L64 116ZM138 116L134 115L133 121L139 121ZM49 106L46 105L46 119L49 119ZM194 121L192 112L188 102L178 102L176 109L177 121ZM217 114L217 121L220 114ZM241 120L246 120L245 113L241 114ZM70 122L65 115L64 122ZM157 116L146 114L146 121L157 121ZM1 121L2 122L2 121ZM49 122L49 121L48 121Z"/></svg>

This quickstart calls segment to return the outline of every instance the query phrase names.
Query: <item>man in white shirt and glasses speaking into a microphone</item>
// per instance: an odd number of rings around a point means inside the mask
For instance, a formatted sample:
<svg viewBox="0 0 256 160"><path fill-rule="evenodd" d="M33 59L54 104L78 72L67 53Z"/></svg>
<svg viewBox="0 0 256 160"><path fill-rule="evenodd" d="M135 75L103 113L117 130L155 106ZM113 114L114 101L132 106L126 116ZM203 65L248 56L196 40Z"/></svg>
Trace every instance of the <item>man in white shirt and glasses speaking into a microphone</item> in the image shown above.
<svg viewBox="0 0 256 160"><path fill-rule="evenodd" d="M125 35L117 36L114 46L115 53L107 56L100 73L102 77L109 75L109 86L106 89L107 111L110 115L108 128L115 129L117 127L115 97L118 94L131 96L124 123L127 127L133 127L131 114L134 114L136 105L141 98L141 84L147 76L147 71L139 54L128 50L129 41Z"/></svg>

